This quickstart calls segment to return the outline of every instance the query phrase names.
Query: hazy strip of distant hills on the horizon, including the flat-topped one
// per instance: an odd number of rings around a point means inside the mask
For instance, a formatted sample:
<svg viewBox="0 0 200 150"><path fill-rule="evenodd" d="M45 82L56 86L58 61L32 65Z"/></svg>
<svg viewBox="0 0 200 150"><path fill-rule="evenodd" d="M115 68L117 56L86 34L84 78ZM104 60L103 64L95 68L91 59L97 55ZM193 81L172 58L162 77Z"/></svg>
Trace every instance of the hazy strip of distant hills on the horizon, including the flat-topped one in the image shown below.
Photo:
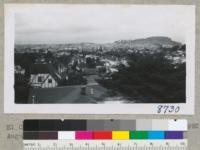
<svg viewBox="0 0 200 150"><path fill-rule="evenodd" d="M100 47L106 50L118 49L118 48L131 48L137 50L157 50L159 48L172 48L174 46L181 46L182 44L176 41L173 41L169 37L163 36L154 36L144 39L135 39L135 40L119 40L113 43L63 43L63 44L26 44L19 45L16 44L15 48L17 49L25 49L29 48L51 48L54 51L57 50L77 50L84 49L88 51L97 50Z"/></svg>

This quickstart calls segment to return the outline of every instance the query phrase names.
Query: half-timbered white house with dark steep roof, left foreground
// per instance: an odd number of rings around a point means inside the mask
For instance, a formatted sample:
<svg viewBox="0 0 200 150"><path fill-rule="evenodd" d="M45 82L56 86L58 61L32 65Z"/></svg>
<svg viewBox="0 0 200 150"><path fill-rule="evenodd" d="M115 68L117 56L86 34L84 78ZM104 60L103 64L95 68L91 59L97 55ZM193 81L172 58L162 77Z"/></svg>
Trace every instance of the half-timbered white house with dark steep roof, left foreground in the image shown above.
<svg viewBox="0 0 200 150"><path fill-rule="evenodd" d="M52 64L33 64L30 66L29 84L31 87L57 87L61 81L61 75L57 72Z"/></svg>

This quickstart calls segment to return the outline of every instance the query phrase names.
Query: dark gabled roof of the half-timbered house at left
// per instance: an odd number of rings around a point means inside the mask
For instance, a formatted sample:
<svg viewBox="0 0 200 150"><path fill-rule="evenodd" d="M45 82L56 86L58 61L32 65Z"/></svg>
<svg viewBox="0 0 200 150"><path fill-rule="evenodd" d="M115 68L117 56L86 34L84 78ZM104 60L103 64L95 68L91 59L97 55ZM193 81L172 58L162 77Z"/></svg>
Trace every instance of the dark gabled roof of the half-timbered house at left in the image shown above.
<svg viewBox="0 0 200 150"><path fill-rule="evenodd" d="M52 64L32 64L30 74L50 74L57 82L62 78Z"/></svg>

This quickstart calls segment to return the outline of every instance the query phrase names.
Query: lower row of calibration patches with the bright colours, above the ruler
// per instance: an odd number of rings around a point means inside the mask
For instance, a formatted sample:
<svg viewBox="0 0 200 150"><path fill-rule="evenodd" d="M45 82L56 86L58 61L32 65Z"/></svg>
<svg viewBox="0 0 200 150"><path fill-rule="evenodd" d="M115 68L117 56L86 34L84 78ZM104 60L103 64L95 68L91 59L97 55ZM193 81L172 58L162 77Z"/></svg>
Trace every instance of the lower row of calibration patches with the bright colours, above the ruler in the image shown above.
<svg viewBox="0 0 200 150"><path fill-rule="evenodd" d="M183 131L54 131L24 132L25 140L162 140L184 139Z"/></svg>

